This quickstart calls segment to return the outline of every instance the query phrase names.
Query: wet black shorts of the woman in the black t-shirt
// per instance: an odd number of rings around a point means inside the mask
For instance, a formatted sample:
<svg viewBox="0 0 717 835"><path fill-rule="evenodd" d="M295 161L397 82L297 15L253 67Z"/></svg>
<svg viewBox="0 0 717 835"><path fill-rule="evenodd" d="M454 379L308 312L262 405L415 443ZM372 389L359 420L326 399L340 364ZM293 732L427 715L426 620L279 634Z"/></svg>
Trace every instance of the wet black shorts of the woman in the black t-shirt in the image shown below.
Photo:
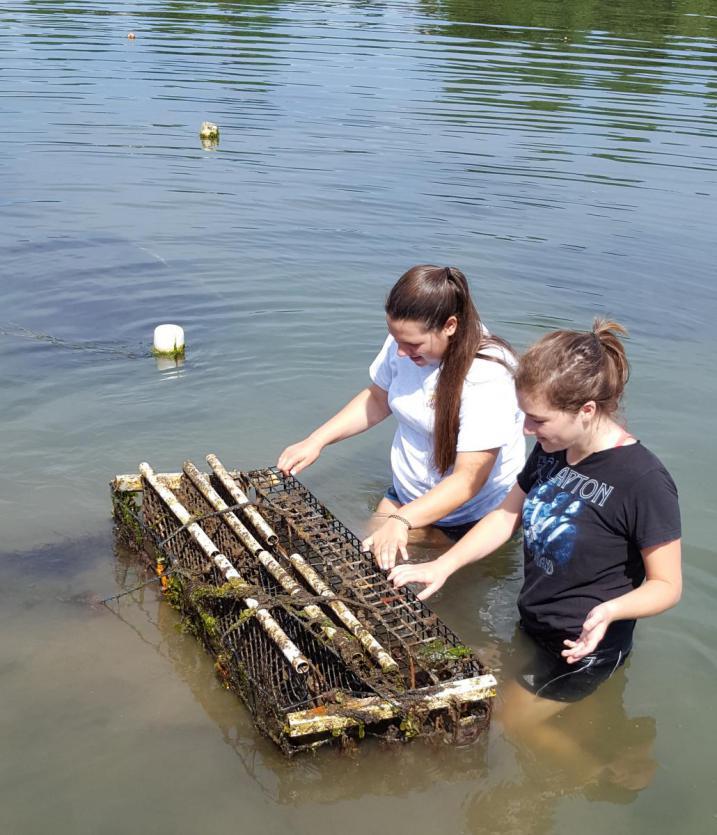
<svg viewBox="0 0 717 835"><path fill-rule="evenodd" d="M517 681L536 696L556 702L578 702L589 696L625 663L630 653L630 645L598 648L575 664L568 664L561 655L529 635L527 638L532 644L532 657L518 673Z"/></svg>

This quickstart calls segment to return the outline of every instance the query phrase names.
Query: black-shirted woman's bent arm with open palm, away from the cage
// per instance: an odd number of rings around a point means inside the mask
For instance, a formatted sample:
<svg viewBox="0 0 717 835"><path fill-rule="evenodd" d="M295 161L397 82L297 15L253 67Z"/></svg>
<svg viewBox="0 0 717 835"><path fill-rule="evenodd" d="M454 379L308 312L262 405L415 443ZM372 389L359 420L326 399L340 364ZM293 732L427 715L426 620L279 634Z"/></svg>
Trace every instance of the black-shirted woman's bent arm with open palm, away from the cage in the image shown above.
<svg viewBox="0 0 717 835"><path fill-rule="evenodd" d="M564 642L567 649L562 655L568 664L594 652L613 621L659 615L679 601L682 596L681 540L653 545L641 553L645 582L627 594L600 603L589 612L577 641Z"/></svg>

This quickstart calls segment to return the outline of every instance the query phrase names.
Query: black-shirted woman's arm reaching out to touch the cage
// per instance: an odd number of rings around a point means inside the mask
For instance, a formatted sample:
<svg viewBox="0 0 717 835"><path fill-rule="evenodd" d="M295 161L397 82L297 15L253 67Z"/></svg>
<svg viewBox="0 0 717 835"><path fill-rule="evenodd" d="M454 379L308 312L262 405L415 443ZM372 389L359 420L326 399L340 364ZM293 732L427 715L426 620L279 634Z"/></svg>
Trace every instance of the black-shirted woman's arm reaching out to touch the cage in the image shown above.
<svg viewBox="0 0 717 835"><path fill-rule="evenodd" d="M459 568L487 557L510 539L520 524L524 499L525 493L514 484L502 503L445 554L433 562L397 565L388 579L396 588L407 583L423 583L425 588L418 599L426 600Z"/></svg>

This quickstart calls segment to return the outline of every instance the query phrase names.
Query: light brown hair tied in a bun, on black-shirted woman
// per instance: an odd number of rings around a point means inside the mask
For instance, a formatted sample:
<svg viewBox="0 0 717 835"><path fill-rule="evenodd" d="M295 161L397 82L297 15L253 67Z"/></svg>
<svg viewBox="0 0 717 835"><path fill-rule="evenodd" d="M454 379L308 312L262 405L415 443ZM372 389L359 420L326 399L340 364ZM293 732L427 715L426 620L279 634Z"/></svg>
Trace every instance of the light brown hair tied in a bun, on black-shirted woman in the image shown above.
<svg viewBox="0 0 717 835"><path fill-rule="evenodd" d="M595 319L587 332L549 333L520 358L515 387L564 412L594 400L599 413L614 415L630 376L620 336L627 336L625 328L606 319Z"/></svg>

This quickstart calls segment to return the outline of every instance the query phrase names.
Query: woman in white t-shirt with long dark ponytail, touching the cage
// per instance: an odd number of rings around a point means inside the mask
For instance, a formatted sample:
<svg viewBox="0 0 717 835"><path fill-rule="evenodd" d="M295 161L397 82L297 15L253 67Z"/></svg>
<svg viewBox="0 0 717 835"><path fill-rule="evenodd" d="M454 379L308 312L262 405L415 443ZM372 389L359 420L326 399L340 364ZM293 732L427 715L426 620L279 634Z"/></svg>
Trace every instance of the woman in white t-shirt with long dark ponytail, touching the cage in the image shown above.
<svg viewBox="0 0 717 835"><path fill-rule="evenodd" d="M358 435L390 414L393 484L376 509L383 523L364 541L381 568L408 531L432 525L459 539L497 507L522 469L525 440L510 346L481 324L463 273L419 265L386 300L389 335L369 373L371 385L279 456L296 475L328 444Z"/></svg>

